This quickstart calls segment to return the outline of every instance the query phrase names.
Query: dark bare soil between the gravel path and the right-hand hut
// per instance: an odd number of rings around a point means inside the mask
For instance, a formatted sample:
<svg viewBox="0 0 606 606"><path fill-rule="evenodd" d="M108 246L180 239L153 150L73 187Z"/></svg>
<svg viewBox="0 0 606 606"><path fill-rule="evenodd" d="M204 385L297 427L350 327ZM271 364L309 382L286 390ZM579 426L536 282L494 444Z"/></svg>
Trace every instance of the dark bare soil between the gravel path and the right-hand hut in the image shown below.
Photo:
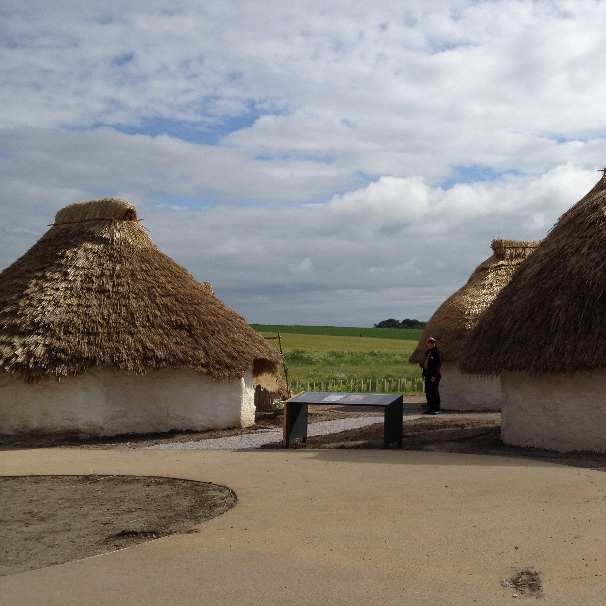
<svg viewBox="0 0 606 606"><path fill-rule="evenodd" d="M467 454L494 454L606 471L606 453L560 453L501 442L500 413L443 413L404 422L404 449ZM383 424L376 423L292 442L293 448L382 448ZM261 448L284 448L284 442Z"/></svg>

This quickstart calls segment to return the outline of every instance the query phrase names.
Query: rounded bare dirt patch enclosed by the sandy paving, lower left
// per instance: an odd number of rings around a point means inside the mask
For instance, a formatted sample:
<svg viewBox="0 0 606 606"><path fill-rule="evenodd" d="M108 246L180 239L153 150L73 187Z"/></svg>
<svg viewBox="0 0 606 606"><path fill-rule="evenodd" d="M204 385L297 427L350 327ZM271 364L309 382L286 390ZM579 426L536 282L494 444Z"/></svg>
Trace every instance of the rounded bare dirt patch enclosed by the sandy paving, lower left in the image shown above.
<svg viewBox="0 0 606 606"><path fill-rule="evenodd" d="M235 504L229 488L175 478L0 478L0 576L196 531Z"/></svg>

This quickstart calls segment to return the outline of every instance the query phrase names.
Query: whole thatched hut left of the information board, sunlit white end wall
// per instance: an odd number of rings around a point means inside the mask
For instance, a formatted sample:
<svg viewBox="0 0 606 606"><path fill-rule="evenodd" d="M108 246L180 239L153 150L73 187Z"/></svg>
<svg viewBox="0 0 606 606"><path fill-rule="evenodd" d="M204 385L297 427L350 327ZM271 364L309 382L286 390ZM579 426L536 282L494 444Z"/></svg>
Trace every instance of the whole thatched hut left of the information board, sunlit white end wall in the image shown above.
<svg viewBox="0 0 606 606"><path fill-rule="evenodd" d="M281 361L124 200L62 208L0 273L0 433L245 427Z"/></svg>

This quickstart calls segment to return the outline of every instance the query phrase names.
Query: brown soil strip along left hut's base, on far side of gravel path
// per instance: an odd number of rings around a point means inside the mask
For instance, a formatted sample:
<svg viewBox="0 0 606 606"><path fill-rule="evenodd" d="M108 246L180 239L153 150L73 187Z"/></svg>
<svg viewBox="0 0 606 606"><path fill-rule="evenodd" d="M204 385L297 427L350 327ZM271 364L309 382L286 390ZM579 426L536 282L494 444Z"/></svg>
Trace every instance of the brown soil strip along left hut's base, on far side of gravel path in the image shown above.
<svg viewBox="0 0 606 606"><path fill-rule="evenodd" d="M334 409L334 410L333 410ZM367 416L366 411L343 412L335 406L310 406L309 422L334 421L335 419L350 419L351 417ZM204 431L173 430L163 433L126 433L119 436L103 436L100 438L75 438L61 436L8 436L0 435L0 450L3 448L49 448L49 447L86 447L99 449L145 448L156 444L178 444L179 442L195 442L211 438L227 438L256 433L259 430L282 427L282 411L258 411L255 414L255 425L252 427L228 427L226 429L208 429Z"/></svg>

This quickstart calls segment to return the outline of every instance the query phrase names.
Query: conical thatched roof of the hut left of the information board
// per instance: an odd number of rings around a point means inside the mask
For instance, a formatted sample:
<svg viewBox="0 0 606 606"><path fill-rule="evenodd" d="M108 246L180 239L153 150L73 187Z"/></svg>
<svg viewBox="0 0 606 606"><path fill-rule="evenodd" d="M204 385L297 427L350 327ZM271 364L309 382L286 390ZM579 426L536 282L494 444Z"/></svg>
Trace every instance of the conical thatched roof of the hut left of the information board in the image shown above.
<svg viewBox="0 0 606 606"><path fill-rule="evenodd" d="M116 198L70 204L0 273L0 370L28 381L111 366L190 367L214 379L279 354L211 288L164 255Z"/></svg>

